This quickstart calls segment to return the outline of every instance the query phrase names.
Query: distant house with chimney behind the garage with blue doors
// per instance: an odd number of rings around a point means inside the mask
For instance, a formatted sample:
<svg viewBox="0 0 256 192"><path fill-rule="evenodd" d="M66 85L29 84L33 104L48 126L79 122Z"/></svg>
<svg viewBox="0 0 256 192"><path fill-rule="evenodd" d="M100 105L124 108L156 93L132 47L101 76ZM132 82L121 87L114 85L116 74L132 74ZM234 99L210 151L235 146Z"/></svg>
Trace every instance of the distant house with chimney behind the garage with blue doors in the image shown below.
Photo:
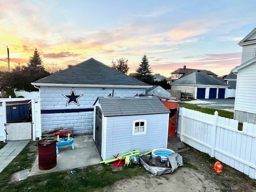
<svg viewBox="0 0 256 192"><path fill-rule="evenodd" d="M202 72L202 73L205 73L211 77L214 77L214 78L220 80L221 82L225 82L225 80L223 80L221 77L218 77L217 74L215 74L211 71L201 70L201 69L189 69L189 68L186 68L186 65L184 65L183 68L178 68L177 70L171 72L172 75L169 78L167 78L166 80L168 83L171 83L180 78L186 77L194 72Z"/></svg>

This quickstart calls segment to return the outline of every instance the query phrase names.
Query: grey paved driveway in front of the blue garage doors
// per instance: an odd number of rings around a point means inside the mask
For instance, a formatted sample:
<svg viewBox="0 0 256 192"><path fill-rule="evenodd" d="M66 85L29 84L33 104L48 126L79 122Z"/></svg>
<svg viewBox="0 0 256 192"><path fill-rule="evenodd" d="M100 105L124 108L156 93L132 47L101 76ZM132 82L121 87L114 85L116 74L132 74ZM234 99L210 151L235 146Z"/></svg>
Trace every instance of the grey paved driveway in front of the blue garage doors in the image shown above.
<svg viewBox="0 0 256 192"><path fill-rule="evenodd" d="M191 101L184 101L185 103L196 104L200 107L214 108L219 110L226 110L234 112L234 99L198 99Z"/></svg>

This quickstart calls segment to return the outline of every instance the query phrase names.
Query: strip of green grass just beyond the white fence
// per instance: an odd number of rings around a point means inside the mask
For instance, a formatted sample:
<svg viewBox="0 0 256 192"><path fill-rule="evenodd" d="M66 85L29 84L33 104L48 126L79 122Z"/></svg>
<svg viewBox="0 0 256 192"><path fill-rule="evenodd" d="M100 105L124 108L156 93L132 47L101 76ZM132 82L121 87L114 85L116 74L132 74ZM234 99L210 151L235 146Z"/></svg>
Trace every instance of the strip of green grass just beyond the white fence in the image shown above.
<svg viewBox="0 0 256 192"><path fill-rule="evenodd" d="M218 111L218 115L221 116L221 117L230 118L230 119L232 119L234 117L233 112L218 110L218 109L212 109L212 108L203 108L203 107L197 106L196 104L180 103L180 107L192 109L192 110L195 110L195 111L200 111L200 112L203 112L203 113L206 113L206 114L211 114L211 115L214 115L214 112Z"/></svg>

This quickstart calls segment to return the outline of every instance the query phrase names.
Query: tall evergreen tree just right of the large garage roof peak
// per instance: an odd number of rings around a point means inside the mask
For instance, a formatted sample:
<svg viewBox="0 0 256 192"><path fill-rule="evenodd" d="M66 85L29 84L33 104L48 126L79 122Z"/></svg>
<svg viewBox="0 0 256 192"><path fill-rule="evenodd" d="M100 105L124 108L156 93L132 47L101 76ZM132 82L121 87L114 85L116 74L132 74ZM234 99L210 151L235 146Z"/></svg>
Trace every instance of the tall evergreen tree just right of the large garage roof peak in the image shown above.
<svg viewBox="0 0 256 192"><path fill-rule="evenodd" d="M150 70L150 64L148 62L146 54L143 55L142 61L140 62L139 68L136 69L136 72L138 80L141 80L147 84L154 83L154 76L152 75L152 71Z"/></svg>

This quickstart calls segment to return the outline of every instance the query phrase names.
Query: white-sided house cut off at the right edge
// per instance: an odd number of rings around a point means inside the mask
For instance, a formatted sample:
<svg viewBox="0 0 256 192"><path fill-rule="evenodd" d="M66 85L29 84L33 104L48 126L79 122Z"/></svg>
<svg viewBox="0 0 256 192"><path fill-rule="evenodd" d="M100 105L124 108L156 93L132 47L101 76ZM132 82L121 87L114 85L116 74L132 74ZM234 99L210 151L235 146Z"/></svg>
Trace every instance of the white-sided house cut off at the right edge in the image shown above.
<svg viewBox="0 0 256 192"><path fill-rule="evenodd" d="M232 70L237 74L234 119L256 124L256 28L239 43L242 64Z"/></svg>

